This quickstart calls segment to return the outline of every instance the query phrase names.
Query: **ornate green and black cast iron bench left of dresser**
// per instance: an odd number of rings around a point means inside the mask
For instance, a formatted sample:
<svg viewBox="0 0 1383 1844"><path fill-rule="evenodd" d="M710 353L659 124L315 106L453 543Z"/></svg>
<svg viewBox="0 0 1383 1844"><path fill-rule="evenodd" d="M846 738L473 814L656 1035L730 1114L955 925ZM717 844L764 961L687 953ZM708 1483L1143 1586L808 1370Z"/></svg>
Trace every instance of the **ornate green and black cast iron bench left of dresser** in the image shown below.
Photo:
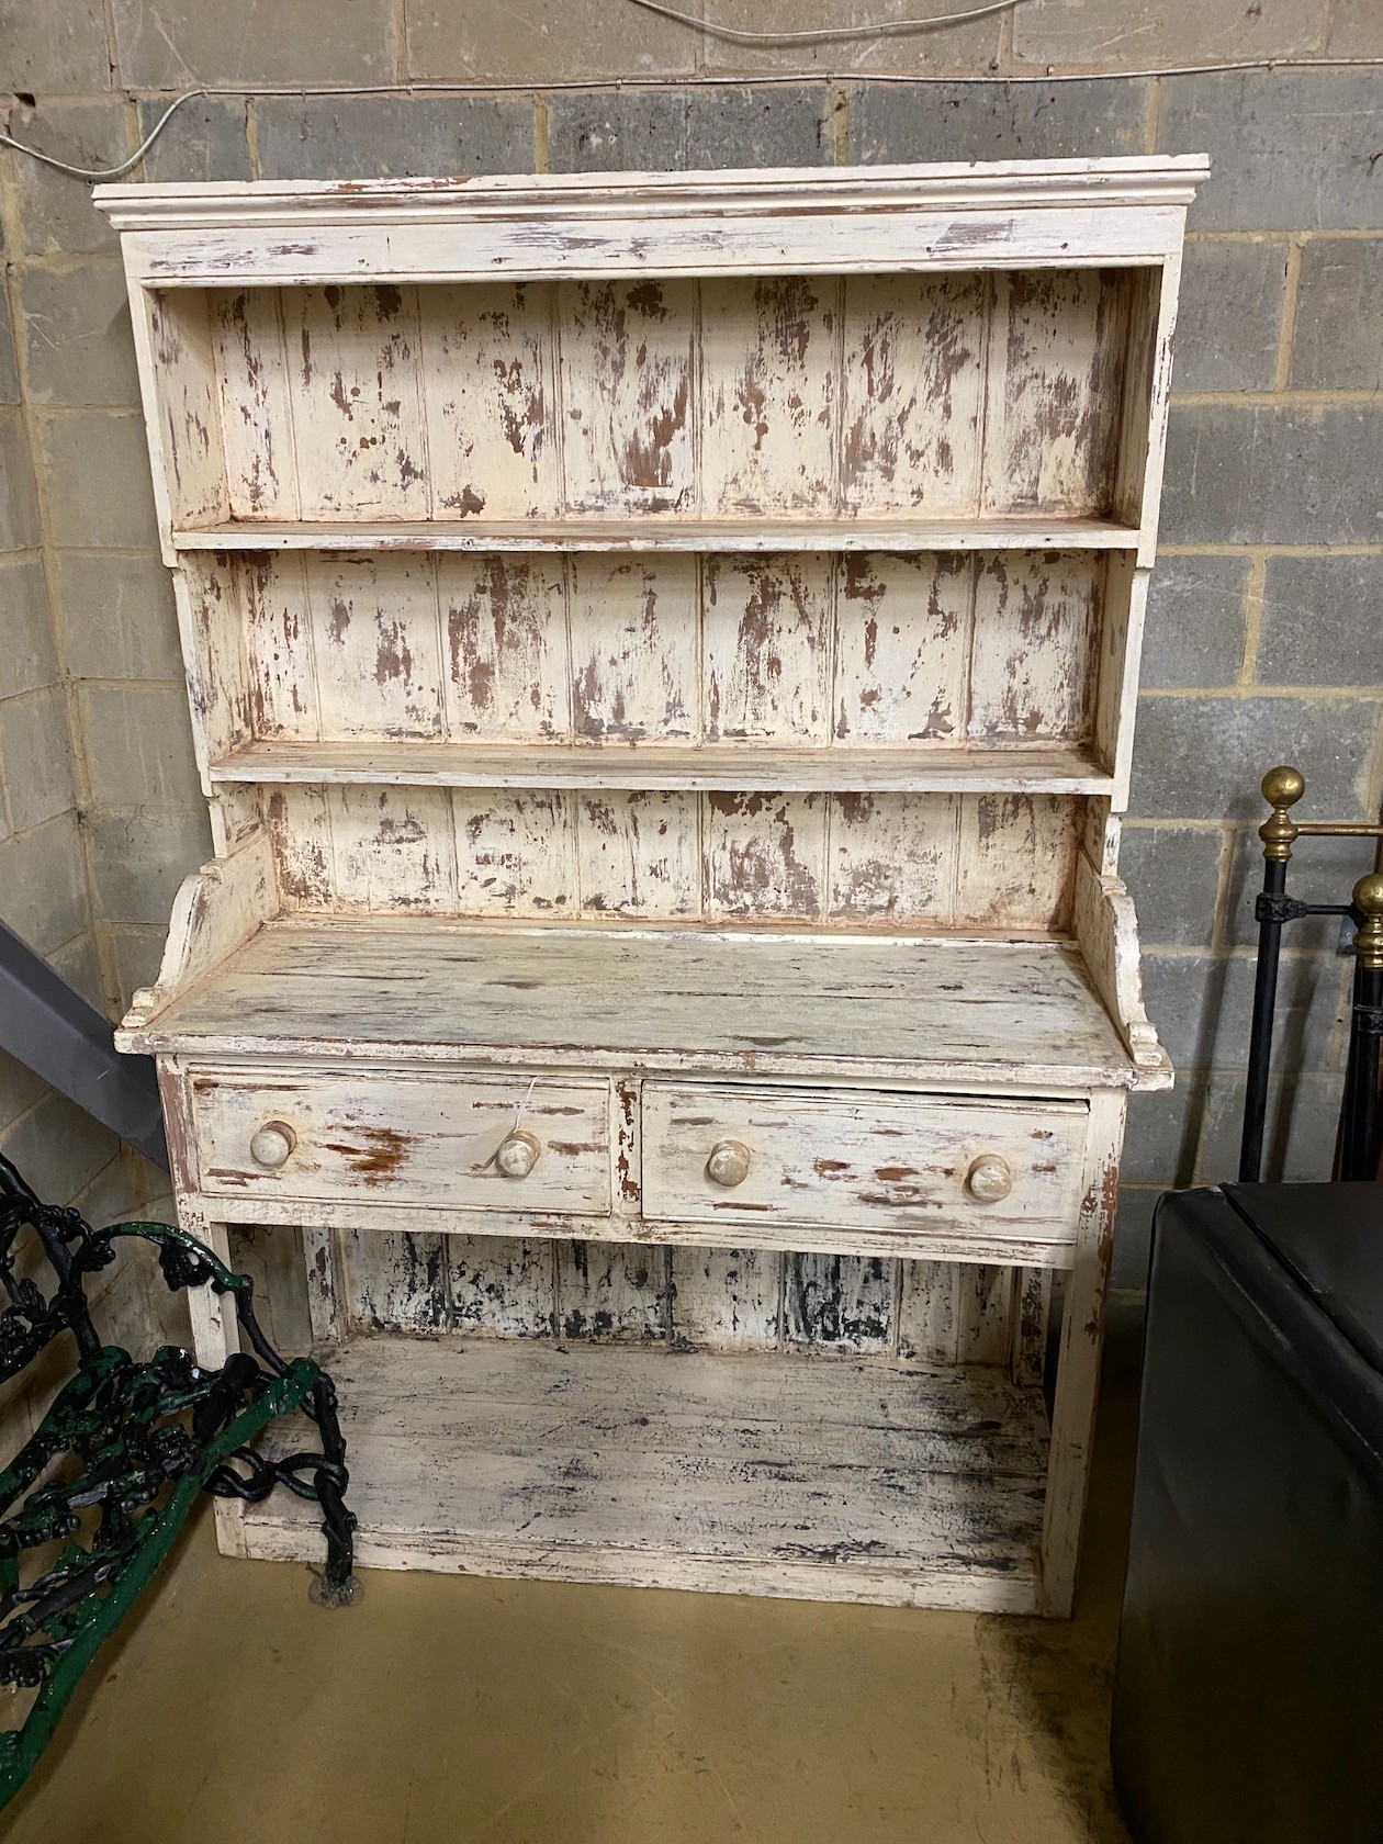
<svg viewBox="0 0 1383 1844"><path fill-rule="evenodd" d="M35 1241L20 1243L31 1228ZM135 1363L101 1344L85 1278L135 1237L159 1250L171 1289L210 1283L230 1294L247 1352L203 1370L175 1346ZM20 1267L46 1259L44 1294ZM258 1501L277 1484L321 1505L326 1566L312 1597L354 1597L345 1507L345 1442L332 1379L308 1357L286 1363L254 1318L253 1285L210 1248L162 1223L92 1230L76 1212L42 1204L0 1158L0 1383L17 1377L65 1333L76 1374L37 1431L0 1473L0 1685L37 1691L24 1720L0 1730L0 1805L24 1785L83 1671L168 1554L197 1492ZM321 1453L266 1460L251 1442L275 1416L301 1409ZM2 1720L2 1719L0 1719Z"/></svg>

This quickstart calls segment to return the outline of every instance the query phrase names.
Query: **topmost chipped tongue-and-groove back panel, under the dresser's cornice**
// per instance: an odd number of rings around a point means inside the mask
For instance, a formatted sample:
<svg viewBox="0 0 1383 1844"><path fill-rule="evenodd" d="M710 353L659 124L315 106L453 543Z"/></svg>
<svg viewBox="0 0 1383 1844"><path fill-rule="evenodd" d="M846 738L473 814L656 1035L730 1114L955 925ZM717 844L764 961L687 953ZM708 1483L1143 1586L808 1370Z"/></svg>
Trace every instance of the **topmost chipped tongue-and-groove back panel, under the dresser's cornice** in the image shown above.
<svg viewBox="0 0 1383 1844"><path fill-rule="evenodd" d="M168 428L219 455L173 483L173 522L1136 522L1147 291L1134 269L177 291ZM188 360L214 367L219 443Z"/></svg>

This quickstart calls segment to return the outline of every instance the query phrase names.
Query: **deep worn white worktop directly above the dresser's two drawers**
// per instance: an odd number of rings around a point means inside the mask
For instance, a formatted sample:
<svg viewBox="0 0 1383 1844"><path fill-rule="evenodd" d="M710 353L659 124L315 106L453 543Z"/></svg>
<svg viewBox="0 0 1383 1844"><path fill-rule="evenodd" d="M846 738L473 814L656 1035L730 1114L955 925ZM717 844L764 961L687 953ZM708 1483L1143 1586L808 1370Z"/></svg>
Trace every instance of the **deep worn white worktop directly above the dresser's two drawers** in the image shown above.
<svg viewBox="0 0 1383 1844"><path fill-rule="evenodd" d="M1129 1088L1057 939L767 935L286 918L122 1047L384 1062Z"/></svg>

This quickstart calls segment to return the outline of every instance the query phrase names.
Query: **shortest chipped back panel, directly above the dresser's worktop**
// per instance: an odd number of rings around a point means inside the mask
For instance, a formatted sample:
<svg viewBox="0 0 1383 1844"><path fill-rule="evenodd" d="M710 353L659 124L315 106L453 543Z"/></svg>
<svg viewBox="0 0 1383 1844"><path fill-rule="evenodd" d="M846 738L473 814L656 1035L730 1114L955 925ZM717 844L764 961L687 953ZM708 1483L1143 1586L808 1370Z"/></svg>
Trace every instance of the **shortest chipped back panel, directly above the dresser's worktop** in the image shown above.
<svg viewBox="0 0 1383 1844"><path fill-rule="evenodd" d="M264 791L302 911L1058 929L1081 802L1060 795Z"/></svg>

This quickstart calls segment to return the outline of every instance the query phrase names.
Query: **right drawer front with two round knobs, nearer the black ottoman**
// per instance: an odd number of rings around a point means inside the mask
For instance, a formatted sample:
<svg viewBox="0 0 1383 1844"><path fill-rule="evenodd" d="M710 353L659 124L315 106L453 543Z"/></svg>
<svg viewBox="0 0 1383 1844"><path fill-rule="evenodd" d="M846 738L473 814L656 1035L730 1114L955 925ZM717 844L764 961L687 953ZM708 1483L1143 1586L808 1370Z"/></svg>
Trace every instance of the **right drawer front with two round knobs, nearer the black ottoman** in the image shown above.
<svg viewBox="0 0 1383 1844"><path fill-rule="evenodd" d="M752 1228L1070 1243L1082 1103L644 1088L644 1210ZM719 1182L717 1182L719 1180Z"/></svg>

